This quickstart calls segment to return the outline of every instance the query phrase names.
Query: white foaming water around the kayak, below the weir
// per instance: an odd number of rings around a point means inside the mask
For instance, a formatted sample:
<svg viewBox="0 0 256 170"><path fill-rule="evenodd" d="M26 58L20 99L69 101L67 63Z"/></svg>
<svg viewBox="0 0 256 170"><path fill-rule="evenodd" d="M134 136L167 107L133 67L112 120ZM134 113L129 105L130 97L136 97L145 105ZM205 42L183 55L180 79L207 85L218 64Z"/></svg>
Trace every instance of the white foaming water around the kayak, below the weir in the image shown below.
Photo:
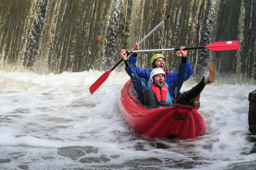
<svg viewBox="0 0 256 170"><path fill-rule="evenodd" d="M117 98L129 76L113 71L91 95L89 87L100 75L0 71L0 169L255 167L248 95L256 85L207 85L198 110L206 134L160 139L134 131L120 114Z"/></svg>

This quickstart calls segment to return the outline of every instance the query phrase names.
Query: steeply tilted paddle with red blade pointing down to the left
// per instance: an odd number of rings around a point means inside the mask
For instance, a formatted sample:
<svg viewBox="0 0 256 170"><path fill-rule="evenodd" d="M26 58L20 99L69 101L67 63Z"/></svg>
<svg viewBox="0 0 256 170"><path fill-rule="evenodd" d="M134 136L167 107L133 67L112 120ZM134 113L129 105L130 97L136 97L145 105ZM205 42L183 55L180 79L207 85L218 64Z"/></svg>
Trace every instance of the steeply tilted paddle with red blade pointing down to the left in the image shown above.
<svg viewBox="0 0 256 170"><path fill-rule="evenodd" d="M140 43L142 43L146 38L148 38L148 36L150 36L158 27L160 27L168 18L171 17L171 14L168 14L167 17L165 17L165 19L160 22L150 33L148 33L148 35L146 35L146 37L144 37L138 44L140 45ZM132 49L134 50L134 48ZM131 51L132 51L131 50ZM121 59L112 69L110 69L110 71L105 72L103 75L100 76L100 78L98 78L98 80L96 80L90 89L90 93L93 94L101 85L102 83L104 83L106 81L106 79L108 79L108 76L110 75L110 73L120 64L122 63L123 59Z"/></svg>

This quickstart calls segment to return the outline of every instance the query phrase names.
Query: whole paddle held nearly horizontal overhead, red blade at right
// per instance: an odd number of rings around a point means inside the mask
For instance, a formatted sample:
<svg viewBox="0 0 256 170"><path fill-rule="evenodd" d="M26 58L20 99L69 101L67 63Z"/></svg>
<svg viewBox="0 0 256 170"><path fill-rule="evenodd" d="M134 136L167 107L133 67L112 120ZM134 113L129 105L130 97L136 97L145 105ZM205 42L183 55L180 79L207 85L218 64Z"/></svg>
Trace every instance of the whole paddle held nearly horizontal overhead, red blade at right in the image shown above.
<svg viewBox="0 0 256 170"><path fill-rule="evenodd" d="M214 42L207 46L201 47L186 47L183 50L188 49L211 49L213 51L225 51L225 50L238 50L240 45L238 41L226 41L226 42ZM178 51L180 48L168 48L168 49L146 49L146 50L136 50L136 51L126 51L126 53L145 53L145 52L156 52L156 51Z"/></svg>

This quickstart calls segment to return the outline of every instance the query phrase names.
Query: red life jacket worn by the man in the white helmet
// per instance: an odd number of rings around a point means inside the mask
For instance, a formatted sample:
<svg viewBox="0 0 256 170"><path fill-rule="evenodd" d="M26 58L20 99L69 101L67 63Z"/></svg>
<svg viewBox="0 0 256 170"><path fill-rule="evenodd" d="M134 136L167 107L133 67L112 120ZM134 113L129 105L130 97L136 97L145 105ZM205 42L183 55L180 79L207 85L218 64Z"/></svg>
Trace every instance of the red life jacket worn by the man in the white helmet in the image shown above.
<svg viewBox="0 0 256 170"><path fill-rule="evenodd" d="M150 87L156 93L156 98L160 103L166 103L169 105L173 105L171 102L171 95L169 93L169 89L167 86L162 86L162 87L155 87L154 84Z"/></svg>

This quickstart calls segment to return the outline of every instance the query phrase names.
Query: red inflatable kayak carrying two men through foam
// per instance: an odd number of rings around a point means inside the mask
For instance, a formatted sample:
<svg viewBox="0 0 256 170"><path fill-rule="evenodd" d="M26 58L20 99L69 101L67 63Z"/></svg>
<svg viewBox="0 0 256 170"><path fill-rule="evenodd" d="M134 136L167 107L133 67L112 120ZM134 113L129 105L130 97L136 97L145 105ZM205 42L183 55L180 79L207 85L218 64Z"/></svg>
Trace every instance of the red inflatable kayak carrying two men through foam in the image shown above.
<svg viewBox="0 0 256 170"><path fill-rule="evenodd" d="M193 139L205 134L205 120L192 106L149 107L142 105L137 96L131 80L118 96L120 112L134 130L150 138Z"/></svg>

